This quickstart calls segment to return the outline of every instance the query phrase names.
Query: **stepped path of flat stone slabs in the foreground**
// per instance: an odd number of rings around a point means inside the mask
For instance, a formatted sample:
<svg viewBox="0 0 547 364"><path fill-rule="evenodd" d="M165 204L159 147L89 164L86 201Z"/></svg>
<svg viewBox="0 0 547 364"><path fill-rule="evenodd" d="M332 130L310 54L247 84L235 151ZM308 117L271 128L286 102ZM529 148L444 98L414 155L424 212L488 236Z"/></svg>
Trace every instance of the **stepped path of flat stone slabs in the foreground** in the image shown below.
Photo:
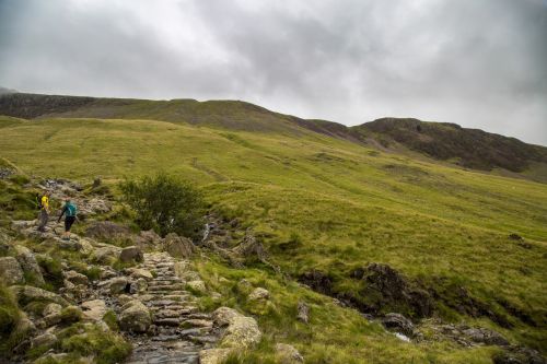
<svg viewBox="0 0 547 364"><path fill-rule="evenodd" d="M199 351L213 348L218 332L209 314L198 312L186 282L175 273L176 259L166 253L144 254L140 268L154 272L137 296L149 307L153 324L146 334L128 336L130 364L199 363Z"/></svg>

